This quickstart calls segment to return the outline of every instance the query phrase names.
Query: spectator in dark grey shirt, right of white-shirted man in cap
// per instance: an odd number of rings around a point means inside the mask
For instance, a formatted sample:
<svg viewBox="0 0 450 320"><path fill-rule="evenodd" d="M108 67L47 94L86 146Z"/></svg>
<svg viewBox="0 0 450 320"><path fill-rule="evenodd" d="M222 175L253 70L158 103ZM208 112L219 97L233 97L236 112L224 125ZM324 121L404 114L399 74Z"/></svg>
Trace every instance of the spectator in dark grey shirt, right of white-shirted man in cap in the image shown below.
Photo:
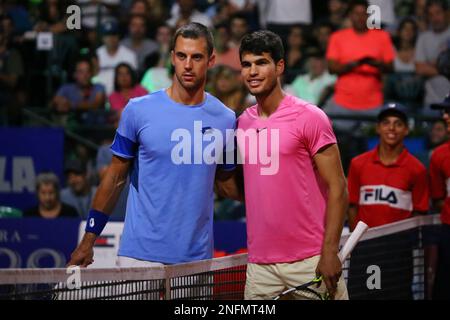
<svg viewBox="0 0 450 320"><path fill-rule="evenodd" d="M145 57L159 50L158 43L146 38L147 26L145 17L141 15L131 16L128 25L128 37L121 44L136 54L138 61L138 74L145 71Z"/></svg>

